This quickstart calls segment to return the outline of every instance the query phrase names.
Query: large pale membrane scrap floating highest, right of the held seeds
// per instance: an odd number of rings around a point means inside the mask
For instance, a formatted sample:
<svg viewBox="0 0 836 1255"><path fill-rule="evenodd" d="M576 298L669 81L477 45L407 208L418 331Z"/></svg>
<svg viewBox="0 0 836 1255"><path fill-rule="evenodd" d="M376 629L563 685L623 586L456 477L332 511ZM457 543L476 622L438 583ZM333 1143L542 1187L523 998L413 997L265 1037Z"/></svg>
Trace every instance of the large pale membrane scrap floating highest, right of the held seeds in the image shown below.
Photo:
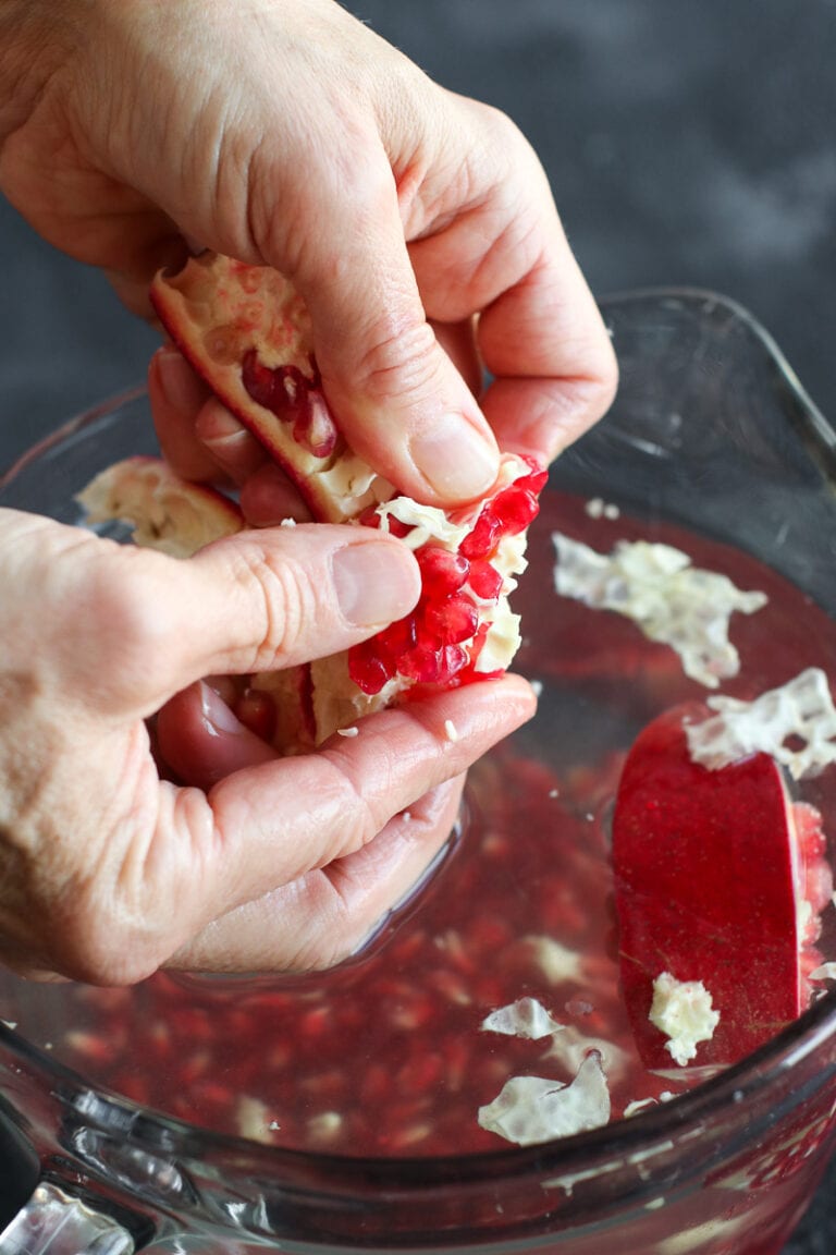
<svg viewBox="0 0 836 1255"><path fill-rule="evenodd" d="M551 540L560 596L632 619L648 640L674 649L686 675L706 688L737 675L729 619L734 611L755 614L766 605L766 594L741 591L728 576L692 566L671 545L619 541L612 553L599 553L562 532Z"/></svg>

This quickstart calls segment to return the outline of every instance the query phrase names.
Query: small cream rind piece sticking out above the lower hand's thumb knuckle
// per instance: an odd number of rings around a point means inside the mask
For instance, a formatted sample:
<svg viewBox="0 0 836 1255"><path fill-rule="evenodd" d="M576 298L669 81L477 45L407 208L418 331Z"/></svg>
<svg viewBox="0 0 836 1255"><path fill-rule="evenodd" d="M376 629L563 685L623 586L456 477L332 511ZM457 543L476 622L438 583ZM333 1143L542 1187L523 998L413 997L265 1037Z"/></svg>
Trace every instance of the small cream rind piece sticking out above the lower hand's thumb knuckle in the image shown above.
<svg viewBox="0 0 836 1255"><path fill-rule="evenodd" d="M102 471L78 494L89 526L122 520L137 545L191 557L244 526L238 506L203 484L180 479L162 458L132 457Z"/></svg>

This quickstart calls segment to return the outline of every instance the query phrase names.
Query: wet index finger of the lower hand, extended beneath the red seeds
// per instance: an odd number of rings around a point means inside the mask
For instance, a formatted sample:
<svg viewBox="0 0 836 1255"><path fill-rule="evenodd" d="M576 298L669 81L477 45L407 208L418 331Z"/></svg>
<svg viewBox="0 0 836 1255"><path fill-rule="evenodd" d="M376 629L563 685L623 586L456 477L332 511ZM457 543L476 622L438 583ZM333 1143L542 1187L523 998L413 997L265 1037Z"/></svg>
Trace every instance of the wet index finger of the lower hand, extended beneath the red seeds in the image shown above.
<svg viewBox="0 0 836 1255"><path fill-rule="evenodd" d="M211 921L363 850L395 814L530 718L534 705L530 686L505 676L370 715L356 738L244 768L208 797L160 786L153 833L143 841L152 917L122 946L132 970L150 970Z"/></svg>

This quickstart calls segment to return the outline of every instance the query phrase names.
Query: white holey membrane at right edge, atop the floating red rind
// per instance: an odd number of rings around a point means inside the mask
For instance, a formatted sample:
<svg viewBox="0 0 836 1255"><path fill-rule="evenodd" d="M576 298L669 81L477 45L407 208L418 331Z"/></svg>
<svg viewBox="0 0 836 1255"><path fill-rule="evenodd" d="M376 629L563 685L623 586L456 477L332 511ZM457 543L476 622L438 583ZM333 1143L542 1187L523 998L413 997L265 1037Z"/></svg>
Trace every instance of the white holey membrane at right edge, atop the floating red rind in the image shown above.
<svg viewBox="0 0 836 1255"><path fill-rule="evenodd" d="M836 708L817 666L753 702L714 697L706 704L714 714L687 724L686 735L693 761L709 771L766 753L801 779L836 762Z"/></svg>

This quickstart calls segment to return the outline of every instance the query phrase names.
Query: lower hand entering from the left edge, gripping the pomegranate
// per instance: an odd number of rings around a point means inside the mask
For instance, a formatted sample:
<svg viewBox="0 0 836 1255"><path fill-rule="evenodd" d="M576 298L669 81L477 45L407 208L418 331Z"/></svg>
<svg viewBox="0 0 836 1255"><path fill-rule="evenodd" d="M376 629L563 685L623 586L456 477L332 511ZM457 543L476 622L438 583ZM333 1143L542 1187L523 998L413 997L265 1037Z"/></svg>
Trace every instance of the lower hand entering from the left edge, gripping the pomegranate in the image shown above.
<svg viewBox="0 0 836 1255"><path fill-rule="evenodd" d="M352 951L445 841L461 773L531 714L529 686L475 684L274 759L199 678L345 649L419 584L365 528L248 531L178 561L0 511L0 960L115 985ZM206 791L157 772L145 720L174 694L160 739Z"/></svg>

